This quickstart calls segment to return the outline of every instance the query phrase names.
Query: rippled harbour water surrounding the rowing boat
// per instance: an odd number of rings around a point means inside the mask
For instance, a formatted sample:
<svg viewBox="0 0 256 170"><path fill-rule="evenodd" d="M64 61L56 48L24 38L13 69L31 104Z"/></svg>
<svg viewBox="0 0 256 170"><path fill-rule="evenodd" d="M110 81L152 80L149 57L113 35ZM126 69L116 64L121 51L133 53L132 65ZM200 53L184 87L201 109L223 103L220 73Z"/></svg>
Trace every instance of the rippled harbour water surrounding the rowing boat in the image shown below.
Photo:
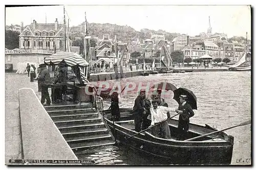
<svg viewBox="0 0 256 170"><path fill-rule="evenodd" d="M178 87L186 87L197 96L198 110L195 116L190 119L191 123L208 124L225 129L246 120L251 119L251 72L249 71L218 71L218 72L186 72L184 74L162 74L139 76L120 80L109 80L110 84L121 82L123 88L127 82L142 82L146 86L147 82L156 84L158 82L169 82ZM137 96L135 91L122 95L120 107L133 107ZM164 95L165 102L169 107L177 107L178 104L173 99L173 92L168 91ZM104 108L110 106L109 101L104 102ZM178 117L176 117L178 118ZM237 164L240 158L250 158L251 155L251 131L250 125L237 127L226 131L234 136L234 148L231 164ZM136 152L124 151L125 147L118 145L103 147L92 155L80 155L80 159L90 158L97 160L99 164L148 164L147 156L141 156ZM105 151L110 149L113 151ZM98 156L99 155L99 156ZM109 161L108 161L109 159Z"/></svg>

